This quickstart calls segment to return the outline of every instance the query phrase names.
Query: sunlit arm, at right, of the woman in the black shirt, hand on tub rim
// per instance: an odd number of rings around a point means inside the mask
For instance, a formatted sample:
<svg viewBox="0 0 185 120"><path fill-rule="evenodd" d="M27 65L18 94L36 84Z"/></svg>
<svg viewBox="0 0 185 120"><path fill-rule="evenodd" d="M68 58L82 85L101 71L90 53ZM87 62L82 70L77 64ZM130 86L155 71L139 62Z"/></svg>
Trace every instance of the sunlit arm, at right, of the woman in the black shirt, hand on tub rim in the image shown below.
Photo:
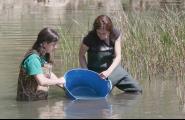
<svg viewBox="0 0 185 120"><path fill-rule="evenodd" d="M112 71L120 64L121 62L121 35L119 38L115 41L115 47L114 47L114 52L115 52L115 58L111 64L111 66L106 70L100 73L100 76L103 79L106 79Z"/></svg>

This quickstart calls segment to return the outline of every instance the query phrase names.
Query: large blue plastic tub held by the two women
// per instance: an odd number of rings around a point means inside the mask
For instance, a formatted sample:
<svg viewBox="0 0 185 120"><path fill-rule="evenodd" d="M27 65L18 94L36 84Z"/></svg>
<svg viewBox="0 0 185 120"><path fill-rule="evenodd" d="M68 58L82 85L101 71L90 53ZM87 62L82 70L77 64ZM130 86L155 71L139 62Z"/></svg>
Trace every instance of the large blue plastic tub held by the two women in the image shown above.
<svg viewBox="0 0 185 120"><path fill-rule="evenodd" d="M72 99L105 98L112 89L110 80L103 80L98 73L87 69L72 69L64 78L66 95Z"/></svg>

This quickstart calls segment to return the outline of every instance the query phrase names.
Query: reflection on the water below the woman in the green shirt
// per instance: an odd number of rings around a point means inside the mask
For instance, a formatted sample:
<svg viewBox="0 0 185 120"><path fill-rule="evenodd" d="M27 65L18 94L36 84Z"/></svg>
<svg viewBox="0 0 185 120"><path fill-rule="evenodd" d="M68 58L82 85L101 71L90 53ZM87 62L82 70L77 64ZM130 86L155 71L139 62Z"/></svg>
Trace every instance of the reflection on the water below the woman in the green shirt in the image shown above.
<svg viewBox="0 0 185 120"><path fill-rule="evenodd" d="M17 102L16 118L58 119L64 118L64 100Z"/></svg>

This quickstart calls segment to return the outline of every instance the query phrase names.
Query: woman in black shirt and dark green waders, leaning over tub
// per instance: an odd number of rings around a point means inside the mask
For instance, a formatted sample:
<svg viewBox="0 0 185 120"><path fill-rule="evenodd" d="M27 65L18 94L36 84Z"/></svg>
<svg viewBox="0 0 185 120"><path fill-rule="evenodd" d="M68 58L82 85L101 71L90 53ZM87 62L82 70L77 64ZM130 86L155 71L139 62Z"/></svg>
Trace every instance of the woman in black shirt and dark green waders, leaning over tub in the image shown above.
<svg viewBox="0 0 185 120"><path fill-rule="evenodd" d="M121 35L106 15L98 16L93 29L84 37L80 46L79 62L82 68L98 72L100 77L110 79L113 86L125 92L141 91L138 82L120 65Z"/></svg>

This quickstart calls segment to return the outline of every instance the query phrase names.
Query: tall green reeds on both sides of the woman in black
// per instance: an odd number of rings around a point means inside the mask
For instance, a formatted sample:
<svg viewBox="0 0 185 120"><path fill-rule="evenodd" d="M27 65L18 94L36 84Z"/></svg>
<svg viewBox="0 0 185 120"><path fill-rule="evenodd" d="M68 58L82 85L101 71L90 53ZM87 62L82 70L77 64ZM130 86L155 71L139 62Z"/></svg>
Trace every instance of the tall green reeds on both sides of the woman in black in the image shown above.
<svg viewBox="0 0 185 120"><path fill-rule="evenodd" d="M112 19L122 33L122 64L136 79L155 75L183 78L185 58L185 15L183 11L160 10L142 13L115 11ZM81 24L73 20L72 24ZM78 67L78 49L87 27L76 37L71 26L60 29L65 70Z"/></svg>

